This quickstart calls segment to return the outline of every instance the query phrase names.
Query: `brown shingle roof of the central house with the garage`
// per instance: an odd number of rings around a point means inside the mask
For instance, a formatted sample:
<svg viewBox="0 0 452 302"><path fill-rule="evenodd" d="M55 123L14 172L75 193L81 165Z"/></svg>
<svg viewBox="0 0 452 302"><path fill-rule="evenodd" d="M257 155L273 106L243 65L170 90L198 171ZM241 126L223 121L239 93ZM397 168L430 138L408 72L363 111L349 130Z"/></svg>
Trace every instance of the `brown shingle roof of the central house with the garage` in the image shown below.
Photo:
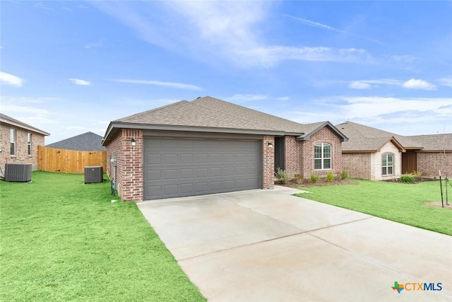
<svg viewBox="0 0 452 302"><path fill-rule="evenodd" d="M328 125L343 139L347 139L330 122L299 124L281 117L205 96L191 102L181 100L153 110L114 120L109 124L105 141L121 127L152 129L160 126L203 127L259 131L269 134L290 134L309 139L309 136ZM278 134L279 132L279 134ZM105 144L104 141L104 144Z"/></svg>

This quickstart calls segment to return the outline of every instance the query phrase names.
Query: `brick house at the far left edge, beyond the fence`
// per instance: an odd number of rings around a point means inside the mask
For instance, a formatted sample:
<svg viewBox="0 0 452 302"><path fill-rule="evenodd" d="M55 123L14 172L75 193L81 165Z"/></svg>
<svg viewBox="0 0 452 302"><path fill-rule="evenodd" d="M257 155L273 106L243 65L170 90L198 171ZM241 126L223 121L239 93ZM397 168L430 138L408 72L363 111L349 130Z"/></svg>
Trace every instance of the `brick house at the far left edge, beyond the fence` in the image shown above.
<svg viewBox="0 0 452 302"><path fill-rule="evenodd" d="M37 170L37 146L50 135L40 129L0 113L0 167L5 163L31 163Z"/></svg>

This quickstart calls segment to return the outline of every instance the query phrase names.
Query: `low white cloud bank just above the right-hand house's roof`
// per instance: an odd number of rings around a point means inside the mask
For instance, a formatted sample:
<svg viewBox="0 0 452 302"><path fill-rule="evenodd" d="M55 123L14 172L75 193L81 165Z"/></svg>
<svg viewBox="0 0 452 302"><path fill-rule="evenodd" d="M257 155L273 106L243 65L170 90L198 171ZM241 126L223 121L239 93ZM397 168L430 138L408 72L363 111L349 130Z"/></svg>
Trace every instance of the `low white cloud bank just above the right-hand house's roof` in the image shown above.
<svg viewBox="0 0 452 302"><path fill-rule="evenodd" d="M319 113L309 108L317 108ZM397 134L427 134L438 127L452 129L452 98L335 96L304 103L280 116L301 123L330 120L338 124L350 120Z"/></svg>

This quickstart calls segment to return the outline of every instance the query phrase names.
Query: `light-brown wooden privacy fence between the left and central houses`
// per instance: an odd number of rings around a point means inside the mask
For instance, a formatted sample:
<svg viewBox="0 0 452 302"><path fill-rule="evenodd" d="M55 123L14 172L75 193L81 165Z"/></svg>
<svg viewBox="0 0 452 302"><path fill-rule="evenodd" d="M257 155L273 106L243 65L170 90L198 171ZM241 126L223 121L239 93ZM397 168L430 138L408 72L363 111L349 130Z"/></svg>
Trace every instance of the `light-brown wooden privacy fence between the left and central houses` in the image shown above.
<svg viewBox="0 0 452 302"><path fill-rule="evenodd" d="M107 170L107 151L76 151L37 147L38 169L49 172L85 173L85 167L102 165Z"/></svg>

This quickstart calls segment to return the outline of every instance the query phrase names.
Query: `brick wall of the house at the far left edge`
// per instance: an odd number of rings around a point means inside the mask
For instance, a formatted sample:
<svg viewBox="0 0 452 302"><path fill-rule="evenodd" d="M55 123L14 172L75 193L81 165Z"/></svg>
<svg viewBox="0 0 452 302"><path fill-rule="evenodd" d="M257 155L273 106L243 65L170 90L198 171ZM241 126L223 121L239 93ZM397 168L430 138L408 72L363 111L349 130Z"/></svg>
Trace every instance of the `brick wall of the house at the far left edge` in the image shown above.
<svg viewBox="0 0 452 302"><path fill-rule="evenodd" d="M11 156L11 129L16 129L16 155ZM32 134L32 155L28 155L28 133ZM5 163L31 163L37 170L37 146L44 146L44 135L8 124L0 125L0 166L5 171Z"/></svg>

